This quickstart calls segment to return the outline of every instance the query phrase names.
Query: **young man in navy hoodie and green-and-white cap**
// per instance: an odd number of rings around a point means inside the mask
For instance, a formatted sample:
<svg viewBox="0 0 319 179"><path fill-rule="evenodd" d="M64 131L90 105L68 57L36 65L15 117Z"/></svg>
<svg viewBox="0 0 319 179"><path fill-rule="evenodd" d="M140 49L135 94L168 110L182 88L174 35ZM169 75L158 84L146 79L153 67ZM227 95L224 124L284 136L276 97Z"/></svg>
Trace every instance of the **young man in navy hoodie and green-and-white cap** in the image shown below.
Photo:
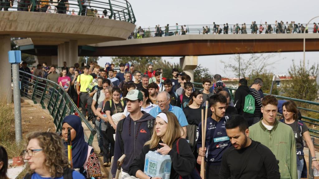
<svg viewBox="0 0 319 179"><path fill-rule="evenodd" d="M116 127L114 159L111 168L112 178L115 178L116 174L116 161L122 154L126 155L122 164L122 178L130 176L128 174L130 164L142 151L145 142L151 138L155 120L150 114L141 111L143 105L141 91L130 90L123 99L126 100L127 111L130 112L130 115L119 121ZM122 125L122 129L120 125Z"/></svg>

